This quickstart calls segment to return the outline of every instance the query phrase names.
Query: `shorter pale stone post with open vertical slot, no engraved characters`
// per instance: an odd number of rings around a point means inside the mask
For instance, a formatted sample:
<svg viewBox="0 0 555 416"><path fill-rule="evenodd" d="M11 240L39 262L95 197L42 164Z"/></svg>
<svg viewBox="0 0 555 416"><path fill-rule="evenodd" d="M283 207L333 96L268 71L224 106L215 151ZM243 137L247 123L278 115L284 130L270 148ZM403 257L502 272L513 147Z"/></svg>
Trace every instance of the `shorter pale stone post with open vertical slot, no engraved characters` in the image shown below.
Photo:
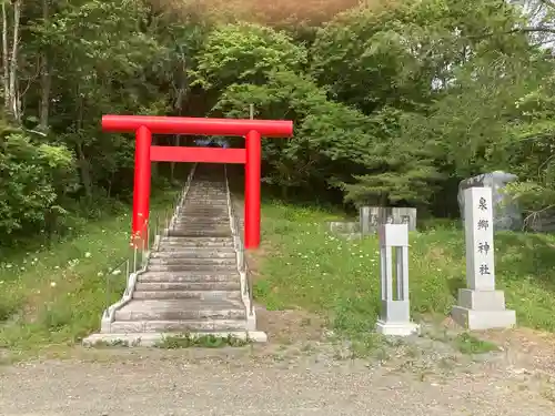
<svg viewBox="0 0 555 416"><path fill-rule="evenodd" d="M408 304L408 224L382 224L380 234L380 286L382 308L376 331L384 335L407 336L418 332L411 322ZM393 285L395 251L396 285Z"/></svg>

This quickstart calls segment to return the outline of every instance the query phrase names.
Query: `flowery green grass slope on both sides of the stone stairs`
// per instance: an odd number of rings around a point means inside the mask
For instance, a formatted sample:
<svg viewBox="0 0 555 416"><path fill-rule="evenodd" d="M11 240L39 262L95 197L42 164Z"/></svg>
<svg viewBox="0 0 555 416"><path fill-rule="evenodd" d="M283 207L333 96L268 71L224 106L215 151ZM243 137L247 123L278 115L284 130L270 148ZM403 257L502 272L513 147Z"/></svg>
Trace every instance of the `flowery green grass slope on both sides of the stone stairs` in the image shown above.
<svg viewBox="0 0 555 416"><path fill-rule="evenodd" d="M161 212L173 200L153 202ZM269 308L300 306L327 316L343 334L366 333L379 313L377 241L345 241L323 223L337 216L311 207L278 203L263 207L263 258L256 297ZM0 263L0 353L73 345L100 324L100 314L118 300L123 274L107 271L129 253L129 214L90 223L80 236L49 251L20 253ZM447 315L464 285L463 233L436 227L411 235L413 313ZM521 325L555 331L555 236L496 235L497 282Z"/></svg>

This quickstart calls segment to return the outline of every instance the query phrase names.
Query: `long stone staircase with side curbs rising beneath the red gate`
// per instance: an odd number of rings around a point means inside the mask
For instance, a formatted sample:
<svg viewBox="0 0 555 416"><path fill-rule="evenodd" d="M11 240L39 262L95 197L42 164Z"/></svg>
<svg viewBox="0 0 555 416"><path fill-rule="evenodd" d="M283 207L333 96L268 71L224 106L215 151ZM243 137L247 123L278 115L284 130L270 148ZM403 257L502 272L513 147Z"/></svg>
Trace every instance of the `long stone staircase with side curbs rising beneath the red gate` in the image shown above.
<svg viewBox="0 0 555 416"><path fill-rule="evenodd" d="M129 275L121 301L104 311L100 333L83 343L153 345L176 334L266 342L251 308L240 222L224 166L193 169L160 234L145 266Z"/></svg>

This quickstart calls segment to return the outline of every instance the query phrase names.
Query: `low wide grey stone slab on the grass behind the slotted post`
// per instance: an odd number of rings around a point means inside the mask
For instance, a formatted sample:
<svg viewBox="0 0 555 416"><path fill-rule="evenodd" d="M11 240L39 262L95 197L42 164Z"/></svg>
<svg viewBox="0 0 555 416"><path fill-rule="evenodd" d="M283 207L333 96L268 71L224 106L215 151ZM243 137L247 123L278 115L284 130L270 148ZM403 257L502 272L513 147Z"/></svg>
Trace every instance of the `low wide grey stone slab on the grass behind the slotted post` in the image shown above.
<svg viewBox="0 0 555 416"><path fill-rule="evenodd" d="M375 234L382 224L408 224L408 231L416 230L416 209L361 206L359 210L362 235Z"/></svg>

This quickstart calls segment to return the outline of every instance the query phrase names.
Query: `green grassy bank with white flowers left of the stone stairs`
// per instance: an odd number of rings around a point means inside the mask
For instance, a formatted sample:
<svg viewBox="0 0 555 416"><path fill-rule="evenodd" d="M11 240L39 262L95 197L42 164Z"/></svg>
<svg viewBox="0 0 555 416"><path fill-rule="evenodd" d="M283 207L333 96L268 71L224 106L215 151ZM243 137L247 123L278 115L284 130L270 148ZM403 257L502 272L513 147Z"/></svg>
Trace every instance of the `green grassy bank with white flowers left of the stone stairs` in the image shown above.
<svg viewBox="0 0 555 416"><path fill-rule="evenodd" d="M174 191L155 196L151 220L174 196ZM121 297L125 286L124 267L113 268L130 254L130 213L121 213L90 222L79 235L49 250L2 258L0 353L71 346L95 331L107 303Z"/></svg>

